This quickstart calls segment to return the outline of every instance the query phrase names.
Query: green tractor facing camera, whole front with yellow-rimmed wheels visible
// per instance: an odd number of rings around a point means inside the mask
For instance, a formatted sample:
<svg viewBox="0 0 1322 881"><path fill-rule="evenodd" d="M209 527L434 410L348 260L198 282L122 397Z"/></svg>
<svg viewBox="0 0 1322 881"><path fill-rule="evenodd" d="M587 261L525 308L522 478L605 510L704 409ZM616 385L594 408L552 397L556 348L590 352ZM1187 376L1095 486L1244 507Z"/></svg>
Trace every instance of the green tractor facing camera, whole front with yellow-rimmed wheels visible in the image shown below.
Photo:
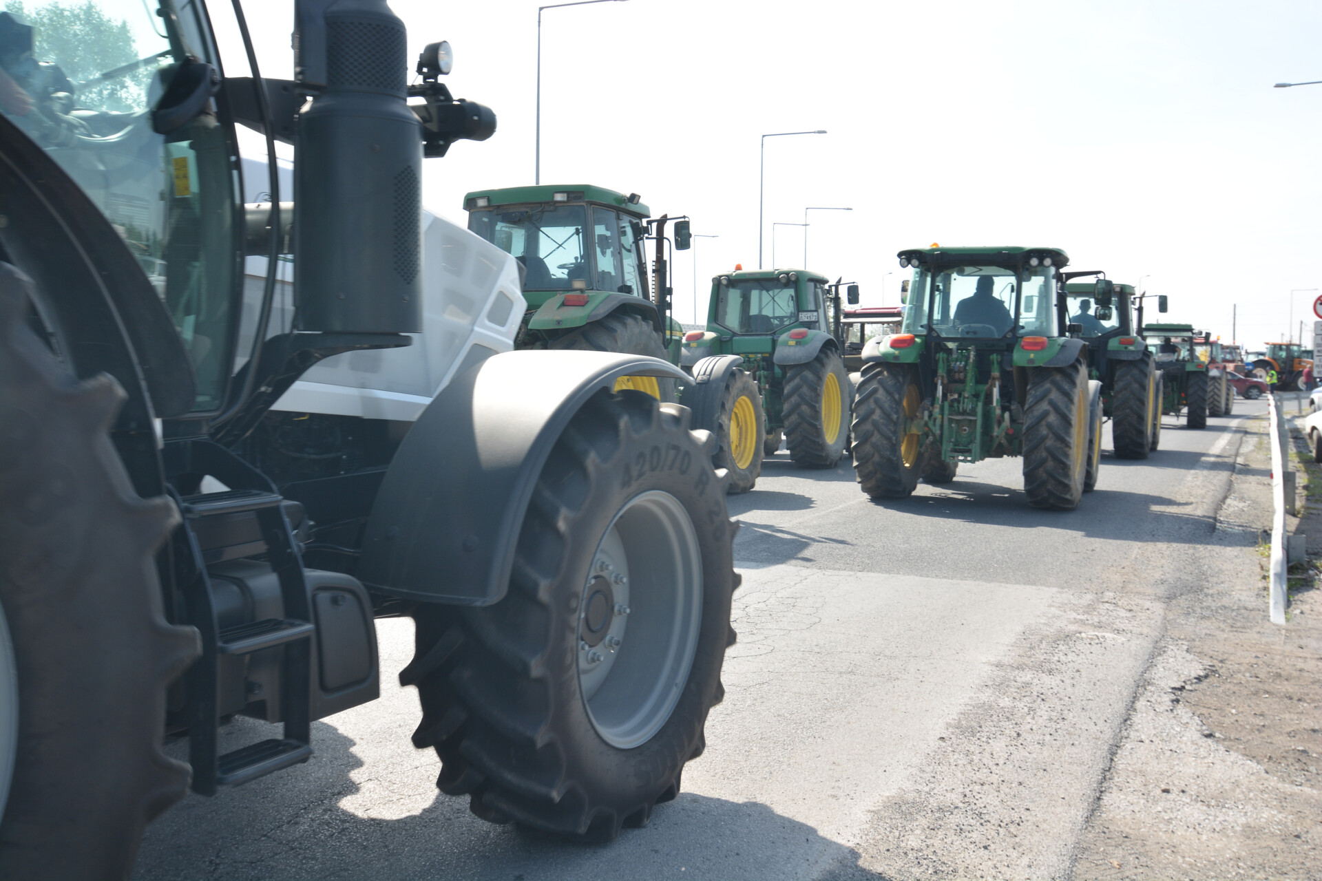
<svg viewBox="0 0 1322 881"><path fill-rule="evenodd" d="M834 468L845 453L851 387L839 288L805 269L736 268L711 280L707 329L685 334L680 363L697 380L683 404L694 427L717 436L713 461L730 472L730 493L754 487L781 440L804 468ZM858 302L857 284L847 296Z"/></svg>

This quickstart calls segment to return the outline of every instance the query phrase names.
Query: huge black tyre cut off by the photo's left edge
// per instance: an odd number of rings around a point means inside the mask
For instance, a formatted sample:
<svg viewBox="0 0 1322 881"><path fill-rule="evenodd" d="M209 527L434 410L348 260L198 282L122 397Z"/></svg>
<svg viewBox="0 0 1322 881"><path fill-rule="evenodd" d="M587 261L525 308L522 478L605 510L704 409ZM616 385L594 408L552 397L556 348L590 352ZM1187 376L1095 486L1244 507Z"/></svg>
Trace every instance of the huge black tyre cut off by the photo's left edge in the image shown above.
<svg viewBox="0 0 1322 881"><path fill-rule="evenodd" d="M134 493L107 435L123 388L52 355L26 285L0 264L0 678L17 691L0 707L0 877L126 878L189 782L161 741L198 638L167 623L153 560L178 514Z"/></svg>

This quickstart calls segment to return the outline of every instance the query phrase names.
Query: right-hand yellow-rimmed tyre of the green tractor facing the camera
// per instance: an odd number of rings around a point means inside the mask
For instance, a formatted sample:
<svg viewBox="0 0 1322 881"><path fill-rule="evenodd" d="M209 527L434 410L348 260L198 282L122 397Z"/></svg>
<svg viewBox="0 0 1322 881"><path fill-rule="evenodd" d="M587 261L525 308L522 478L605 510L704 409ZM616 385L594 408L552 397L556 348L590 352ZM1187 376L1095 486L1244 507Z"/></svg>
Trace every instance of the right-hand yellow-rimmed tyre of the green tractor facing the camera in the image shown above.
<svg viewBox="0 0 1322 881"><path fill-rule="evenodd" d="M845 362L822 347L806 365L785 369L781 416L789 458L802 468L836 468L849 442L850 390Z"/></svg>

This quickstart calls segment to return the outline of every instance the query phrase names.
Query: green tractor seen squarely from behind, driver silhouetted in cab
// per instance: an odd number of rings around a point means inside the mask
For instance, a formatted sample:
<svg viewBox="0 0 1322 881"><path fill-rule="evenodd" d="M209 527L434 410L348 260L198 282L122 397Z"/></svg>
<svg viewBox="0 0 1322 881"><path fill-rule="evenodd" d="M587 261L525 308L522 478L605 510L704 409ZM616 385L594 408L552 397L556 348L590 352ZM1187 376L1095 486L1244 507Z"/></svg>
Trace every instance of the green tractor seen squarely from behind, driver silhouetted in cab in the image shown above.
<svg viewBox="0 0 1322 881"><path fill-rule="evenodd" d="M1034 507L1069 510L1097 482L1101 382L1064 337L1059 248L900 251L902 332L863 349L854 469L873 498L954 479L960 462L1023 457Z"/></svg>

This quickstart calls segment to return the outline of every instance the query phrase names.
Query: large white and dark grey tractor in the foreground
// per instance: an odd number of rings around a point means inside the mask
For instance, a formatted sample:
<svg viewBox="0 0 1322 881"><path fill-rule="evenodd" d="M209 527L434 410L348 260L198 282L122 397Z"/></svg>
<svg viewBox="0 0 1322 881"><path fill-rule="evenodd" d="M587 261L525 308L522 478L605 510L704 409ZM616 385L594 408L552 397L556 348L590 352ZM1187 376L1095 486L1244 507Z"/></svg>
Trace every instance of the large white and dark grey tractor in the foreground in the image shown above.
<svg viewBox="0 0 1322 881"><path fill-rule="evenodd" d="M724 478L687 409L616 391L673 365L501 351L514 260L420 207L424 156L496 127L449 46L408 85L382 0L297 0L282 81L241 4L93 0L78 41L29 12L0 13L0 877L127 877L188 790L296 773L313 720L378 696L377 617L414 621L406 749L443 793L571 840L645 826L723 695ZM399 353L412 391L334 382ZM235 716L270 737L222 752Z"/></svg>

